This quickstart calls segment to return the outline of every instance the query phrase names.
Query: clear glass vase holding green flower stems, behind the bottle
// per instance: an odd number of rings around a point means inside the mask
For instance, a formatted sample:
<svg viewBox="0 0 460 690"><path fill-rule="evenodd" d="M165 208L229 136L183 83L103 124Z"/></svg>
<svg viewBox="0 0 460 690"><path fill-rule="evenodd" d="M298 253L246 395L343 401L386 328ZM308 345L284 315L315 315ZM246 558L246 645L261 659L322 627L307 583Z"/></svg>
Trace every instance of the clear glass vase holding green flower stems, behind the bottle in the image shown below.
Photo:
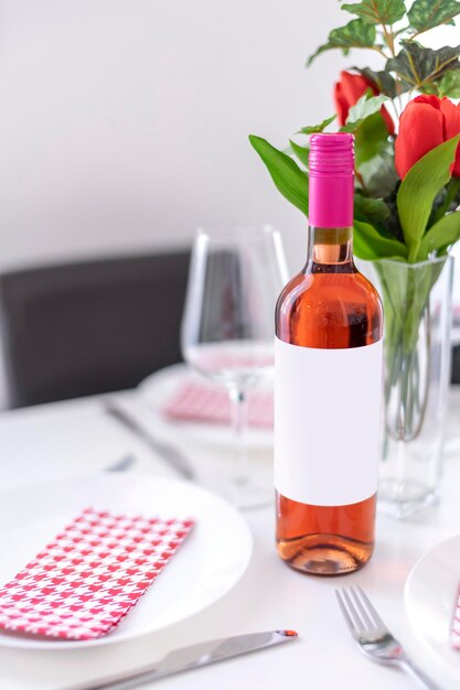
<svg viewBox="0 0 460 690"><path fill-rule="evenodd" d="M384 304L378 508L408 517L438 499L450 380L453 258L367 266Z"/></svg>

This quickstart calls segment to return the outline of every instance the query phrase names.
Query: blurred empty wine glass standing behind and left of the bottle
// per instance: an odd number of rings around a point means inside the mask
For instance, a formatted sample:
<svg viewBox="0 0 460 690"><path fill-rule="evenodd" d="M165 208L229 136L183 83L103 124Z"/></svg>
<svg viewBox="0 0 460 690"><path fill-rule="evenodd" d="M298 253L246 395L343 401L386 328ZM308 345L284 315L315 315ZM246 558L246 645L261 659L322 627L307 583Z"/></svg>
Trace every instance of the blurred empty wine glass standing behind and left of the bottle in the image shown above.
<svg viewBox="0 0 460 690"><path fill-rule="evenodd" d="M248 390L272 377L275 304L287 281L281 237L270 227L208 233L193 245L182 321L182 354L228 392L238 461L226 487L239 508L270 498L250 481Z"/></svg>

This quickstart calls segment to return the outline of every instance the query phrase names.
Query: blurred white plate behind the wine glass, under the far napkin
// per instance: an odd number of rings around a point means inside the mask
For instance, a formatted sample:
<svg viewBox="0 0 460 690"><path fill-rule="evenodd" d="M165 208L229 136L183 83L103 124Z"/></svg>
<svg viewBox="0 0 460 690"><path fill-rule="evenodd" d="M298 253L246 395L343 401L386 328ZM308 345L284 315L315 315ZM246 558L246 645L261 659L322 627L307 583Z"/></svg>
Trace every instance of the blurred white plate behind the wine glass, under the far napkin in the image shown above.
<svg viewBox="0 0 460 690"><path fill-rule="evenodd" d="M178 390L184 380L203 380L184 364L174 364L171 367L160 369L148 376L138 387L141 397L154 412L154 427L152 430L163 435L171 435L175 429L180 429L190 439L206 444L234 446L235 434L229 427L224 424L206 424L205 422L182 422L168 420L162 409ZM146 422L148 420L145 420ZM270 429L254 429L247 431L247 444L249 449L265 450L272 448L274 433Z"/></svg>

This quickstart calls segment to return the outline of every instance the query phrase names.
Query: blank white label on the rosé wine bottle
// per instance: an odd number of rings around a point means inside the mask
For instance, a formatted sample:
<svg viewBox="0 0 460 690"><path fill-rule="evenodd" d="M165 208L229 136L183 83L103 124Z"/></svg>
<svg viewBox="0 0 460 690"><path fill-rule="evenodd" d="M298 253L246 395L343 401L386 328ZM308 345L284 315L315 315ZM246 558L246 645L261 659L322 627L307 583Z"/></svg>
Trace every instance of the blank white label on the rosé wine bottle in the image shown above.
<svg viewBox="0 0 460 690"><path fill-rule="evenodd" d="M382 341L319 349L275 338L275 487L344 506L377 489Z"/></svg>

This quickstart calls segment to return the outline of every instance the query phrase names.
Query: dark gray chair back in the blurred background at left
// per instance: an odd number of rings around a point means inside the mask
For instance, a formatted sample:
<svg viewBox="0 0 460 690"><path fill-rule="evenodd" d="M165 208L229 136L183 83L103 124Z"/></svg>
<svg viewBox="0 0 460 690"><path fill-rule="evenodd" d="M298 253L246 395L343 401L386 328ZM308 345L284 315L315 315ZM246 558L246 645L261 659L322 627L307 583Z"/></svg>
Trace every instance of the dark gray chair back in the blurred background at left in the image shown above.
<svg viewBox="0 0 460 690"><path fill-rule="evenodd" d="M181 360L190 251L0 277L11 407L132 388Z"/></svg>

